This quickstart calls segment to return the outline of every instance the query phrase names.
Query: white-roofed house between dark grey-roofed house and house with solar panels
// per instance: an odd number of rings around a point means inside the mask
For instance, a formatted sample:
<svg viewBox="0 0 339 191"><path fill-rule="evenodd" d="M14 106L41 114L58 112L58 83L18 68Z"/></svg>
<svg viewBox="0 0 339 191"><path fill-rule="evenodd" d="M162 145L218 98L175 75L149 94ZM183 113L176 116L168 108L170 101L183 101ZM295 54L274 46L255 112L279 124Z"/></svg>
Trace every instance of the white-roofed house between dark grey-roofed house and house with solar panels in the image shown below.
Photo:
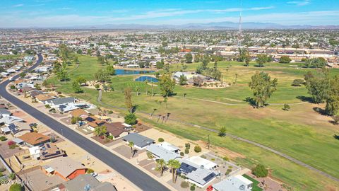
<svg viewBox="0 0 339 191"><path fill-rule="evenodd" d="M151 144L146 148L146 150L155 156L155 160L163 159L165 162L168 162L172 159L181 158L179 155L180 149L167 142L163 142L161 144Z"/></svg>

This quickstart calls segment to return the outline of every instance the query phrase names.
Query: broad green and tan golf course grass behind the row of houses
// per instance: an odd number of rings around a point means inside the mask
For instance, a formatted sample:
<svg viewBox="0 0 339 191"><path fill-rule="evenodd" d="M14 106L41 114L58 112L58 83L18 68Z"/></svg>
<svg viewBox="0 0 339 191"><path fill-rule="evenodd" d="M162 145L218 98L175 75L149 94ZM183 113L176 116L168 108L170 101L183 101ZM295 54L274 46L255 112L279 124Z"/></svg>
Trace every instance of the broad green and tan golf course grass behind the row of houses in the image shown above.
<svg viewBox="0 0 339 191"><path fill-rule="evenodd" d="M71 71L69 74L71 81L78 76L93 80L95 71L102 67L97 64L95 57L79 56L79 61L81 64L79 64L78 68L76 68L75 64L67 66L67 69ZM160 101L163 101L162 97L150 97L145 94L139 96L133 94L133 103L138 106L137 110L139 111L150 113L156 108L155 115L165 115L169 112L171 113L170 117L173 119L203 125L210 129L218 130L220 127L225 126L227 133L270 146L338 178L339 172L336 169L339 168L339 156L334 154L338 152L339 144L338 140L333 138L333 134L338 134L338 132L335 131L333 125L323 120L321 115L312 110L314 105L310 103L291 105L291 110L286 112L282 110L281 105L271 105L268 108L258 110L251 108L243 101L244 98L251 96L251 91L247 86L251 75L257 70L264 70L270 76L278 78L279 83L278 90L273 93L272 98L269 100L270 103L299 103L301 100L297 96L308 96L307 91L304 87L292 87L290 84L294 79L302 79L304 73L314 69L296 69L286 64L271 64L263 68L257 68L254 66L246 67L232 62L232 66L227 70L229 65L227 62L220 62L219 64L225 81L232 82L234 75L238 74L237 83L232 84L229 88L203 89L176 86L174 93L177 93L177 97L169 98L167 107L164 103L160 105ZM189 69L193 71L194 66L198 66L198 64L189 64ZM172 66L172 70L176 68L177 66ZM339 74L339 70L331 69L331 75L334 74ZM102 102L124 107L124 94L121 92L124 88L131 87L133 91L136 91L136 87L138 87L141 93L152 89L152 86L144 82L133 81L136 76L138 75L113 76L112 86L115 91L104 92ZM54 83L57 91L100 105L96 100L97 91L83 88L84 93L73 93L71 81L59 82L55 76L52 76L48 83ZM153 87L153 91L159 93L159 88ZM215 100L222 103L239 103L245 104L245 106L222 105L182 98L184 93L187 93L187 97ZM137 114L145 122L187 139L205 140L207 134L213 134L211 135L211 141L214 145L225 147L246 156L246 158L234 159L239 164L250 168L256 163L263 163L272 169L273 177L295 187L296 190L325 190L325 185L338 187L338 183L333 183L333 180L298 166L269 151L263 151L263 149L256 146L235 141L228 137L221 138L215 133L188 125L169 123L161 125L157 123L157 119L154 117L149 119L149 117L141 113ZM319 181L319 176L321 176L321 181Z"/></svg>

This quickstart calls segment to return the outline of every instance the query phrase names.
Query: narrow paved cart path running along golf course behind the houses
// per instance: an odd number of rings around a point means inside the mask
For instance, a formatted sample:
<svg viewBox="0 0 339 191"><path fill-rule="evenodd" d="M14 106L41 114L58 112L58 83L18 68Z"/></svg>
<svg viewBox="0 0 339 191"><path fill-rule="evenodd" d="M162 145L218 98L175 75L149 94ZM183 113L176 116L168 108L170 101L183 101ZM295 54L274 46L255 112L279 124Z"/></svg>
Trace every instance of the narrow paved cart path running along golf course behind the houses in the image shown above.
<svg viewBox="0 0 339 191"><path fill-rule="evenodd" d="M101 98L102 98L102 91L99 91L99 96L97 96L97 102L101 103L102 105L106 105L107 107L110 107L110 108L117 108L117 109L120 109L120 110L127 110L126 108L121 108L121 107L117 107L117 106L115 106L115 105L109 105L109 104L107 104L107 103L102 103ZM151 115L150 113L144 112L144 111L141 111L141 110L137 110L136 112L143 113L143 114L145 114L145 115ZM191 127L196 127L196 128L205 129L205 130L208 130L208 131L210 131L210 132L215 132L215 133L217 133L217 134L218 134L218 132L219 132L219 131L216 130L216 129L211 129L211 128L208 128L208 127L203 127L203 126L201 126L201 125L196 125L196 124L193 124L193 123L191 123L191 122L185 122L185 121L182 121L182 120L176 120L176 119L174 119L173 117L169 117L168 120L174 121L174 122L179 122L179 123L184 124L184 125L189 125L189 126L191 126ZM328 173L325 173L325 172L323 172L322 170L319 170L319 169L317 169L317 168L314 168L313 166L309 166L307 163L303 163L302 161L299 161L299 160L297 160L296 158L292 158L291 156L288 156L287 154L283 154L282 152L277 151L277 150L275 150L275 149L272 149L272 148L270 148L270 147L268 147L268 146L265 146L265 145L263 145L263 144L258 144L257 142L251 141L251 140L249 140L249 139L244 139L244 138L242 138L242 137L237 137L237 136L235 136L235 135L233 135L233 134L229 134L229 133L227 133L226 136L227 136L227 137L232 137L233 139L237 139L237 140L239 140L239 141L244 141L244 142L246 142L246 143L248 143L248 144L252 144L252 145L258 146L258 147L260 147L261 149L265 149L265 150L267 150L267 151L273 152L274 154L278 154L278 156L281 156L281 157L283 157L283 158L286 158L286 159L288 159L288 160L290 160L290 161L292 161L292 162L294 162L294 163L297 163L297 164L300 165L300 166L304 166L304 167L306 167L306 168L309 168L309 170L313 170L313 171L315 171L316 173L320 173L321 175L324 175L324 176L326 176L327 178L331 178L332 180L335 180L335 181L339 182L339 178L335 178L333 175L330 175L330 174L328 174Z"/></svg>

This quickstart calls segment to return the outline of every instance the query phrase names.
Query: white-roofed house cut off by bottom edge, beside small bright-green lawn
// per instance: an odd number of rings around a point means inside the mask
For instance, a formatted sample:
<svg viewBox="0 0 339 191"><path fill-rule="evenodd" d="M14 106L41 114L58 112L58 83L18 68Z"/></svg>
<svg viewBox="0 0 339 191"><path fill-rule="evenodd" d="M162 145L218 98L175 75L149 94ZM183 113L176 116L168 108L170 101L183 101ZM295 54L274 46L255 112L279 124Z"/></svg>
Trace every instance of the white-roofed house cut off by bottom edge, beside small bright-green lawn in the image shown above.
<svg viewBox="0 0 339 191"><path fill-rule="evenodd" d="M251 191L253 183L242 175L234 175L213 185L215 191Z"/></svg>

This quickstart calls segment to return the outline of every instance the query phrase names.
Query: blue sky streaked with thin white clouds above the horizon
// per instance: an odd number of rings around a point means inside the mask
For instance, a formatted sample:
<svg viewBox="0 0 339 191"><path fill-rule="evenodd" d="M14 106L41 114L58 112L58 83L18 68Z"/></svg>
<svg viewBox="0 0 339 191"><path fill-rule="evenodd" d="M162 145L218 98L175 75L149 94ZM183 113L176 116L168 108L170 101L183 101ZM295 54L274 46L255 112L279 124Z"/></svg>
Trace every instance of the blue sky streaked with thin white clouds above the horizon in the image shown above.
<svg viewBox="0 0 339 191"><path fill-rule="evenodd" d="M339 0L0 0L0 28L239 21L339 25Z"/></svg>

